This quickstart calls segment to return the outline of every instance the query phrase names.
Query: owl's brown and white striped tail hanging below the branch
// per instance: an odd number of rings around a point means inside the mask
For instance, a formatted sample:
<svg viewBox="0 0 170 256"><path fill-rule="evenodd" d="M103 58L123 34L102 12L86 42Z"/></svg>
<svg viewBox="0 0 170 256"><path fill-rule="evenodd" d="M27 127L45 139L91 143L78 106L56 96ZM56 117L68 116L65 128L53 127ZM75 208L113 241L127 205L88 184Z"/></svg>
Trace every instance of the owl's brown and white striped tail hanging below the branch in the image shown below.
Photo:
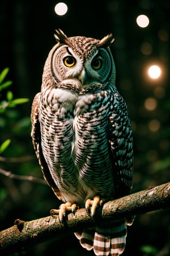
<svg viewBox="0 0 170 256"><path fill-rule="evenodd" d="M80 244L87 250L94 249L97 256L118 256L122 254L126 245L126 235L125 219L87 229L82 233L75 233L75 236L80 240Z"/></svg>

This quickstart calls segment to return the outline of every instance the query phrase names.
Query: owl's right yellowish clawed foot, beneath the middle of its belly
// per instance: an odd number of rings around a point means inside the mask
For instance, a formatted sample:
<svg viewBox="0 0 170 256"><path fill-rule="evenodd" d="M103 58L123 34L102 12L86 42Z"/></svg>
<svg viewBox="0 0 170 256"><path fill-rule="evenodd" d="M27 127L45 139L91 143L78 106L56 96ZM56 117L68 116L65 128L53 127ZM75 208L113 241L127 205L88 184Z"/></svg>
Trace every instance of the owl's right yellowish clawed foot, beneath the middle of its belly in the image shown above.
<svg viewBox="0 0 170 256"><path fill-rule="evenodd" d="M104 199L100 199L99 195L94 196L94 200L87 199L85 203L87 214L94 217L97 207L101 206L103 203Z"/></svg>

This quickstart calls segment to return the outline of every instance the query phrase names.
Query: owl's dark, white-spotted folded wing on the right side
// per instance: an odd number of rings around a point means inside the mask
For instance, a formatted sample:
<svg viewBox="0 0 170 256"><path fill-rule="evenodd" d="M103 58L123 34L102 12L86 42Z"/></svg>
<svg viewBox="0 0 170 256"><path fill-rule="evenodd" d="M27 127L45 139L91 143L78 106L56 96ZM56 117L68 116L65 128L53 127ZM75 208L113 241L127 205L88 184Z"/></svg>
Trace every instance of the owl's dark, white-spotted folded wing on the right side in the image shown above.
<svg viewBox="0 0 170 256"><path fill-rule="evenodd" d="M128 195L133 176L133 138L129 113L124 99L114 93L108 124L108 139L114 164L118 197Z"/></svg>

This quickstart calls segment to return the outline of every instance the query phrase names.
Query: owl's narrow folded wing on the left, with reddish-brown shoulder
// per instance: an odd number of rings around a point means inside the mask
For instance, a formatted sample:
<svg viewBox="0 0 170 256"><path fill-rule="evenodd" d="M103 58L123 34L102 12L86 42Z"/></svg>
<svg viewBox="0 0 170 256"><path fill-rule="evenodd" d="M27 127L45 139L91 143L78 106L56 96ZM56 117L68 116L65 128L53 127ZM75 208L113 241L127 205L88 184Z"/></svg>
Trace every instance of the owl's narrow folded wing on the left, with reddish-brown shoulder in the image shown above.
<svg viewBox="0 0 170 256"><path fill-rule="evenodd" d="M39 122L39 101L40 101L41 93L37 93L35 98L33 99L32 103L32 110L31 110L31 122L32 122L32 131L31 131L31 137L32 137L32 143L33 147L35 149L37 158L39 160L39 164L42 170L42 174L44 176L44 179L49 184L49 186L53 189L54 193L58 198L60 198L60 192L57 188L56 184L54 183L54 180L52 178L52 175L50 174L48 164L45 161L42 147L41 147L41 131L40 131L40 122Z"/></svg>

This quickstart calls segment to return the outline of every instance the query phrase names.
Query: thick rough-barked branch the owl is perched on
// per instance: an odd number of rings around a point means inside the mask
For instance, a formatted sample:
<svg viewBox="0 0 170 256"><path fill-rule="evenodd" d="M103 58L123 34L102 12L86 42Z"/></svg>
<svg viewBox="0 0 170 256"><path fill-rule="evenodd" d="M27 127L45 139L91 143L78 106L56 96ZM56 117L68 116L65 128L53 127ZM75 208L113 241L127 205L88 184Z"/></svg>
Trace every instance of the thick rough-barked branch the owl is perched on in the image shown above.
<svg viewBox="0 0 170 256"><path fill-rule="evenodd" d="M78 230L94 226L96 222L111 222L113 218L121 218L152 210L164 209L170 206L170 183L159 185L109 201L97 210L95 219L88 216L84 208L76 213L68 214L66 223L60 224L57 217L44 217L39 220L24 222L15 221L11 228L0 232L0 254L27 249L36 243L51 238L61 238Z"/></svg>

